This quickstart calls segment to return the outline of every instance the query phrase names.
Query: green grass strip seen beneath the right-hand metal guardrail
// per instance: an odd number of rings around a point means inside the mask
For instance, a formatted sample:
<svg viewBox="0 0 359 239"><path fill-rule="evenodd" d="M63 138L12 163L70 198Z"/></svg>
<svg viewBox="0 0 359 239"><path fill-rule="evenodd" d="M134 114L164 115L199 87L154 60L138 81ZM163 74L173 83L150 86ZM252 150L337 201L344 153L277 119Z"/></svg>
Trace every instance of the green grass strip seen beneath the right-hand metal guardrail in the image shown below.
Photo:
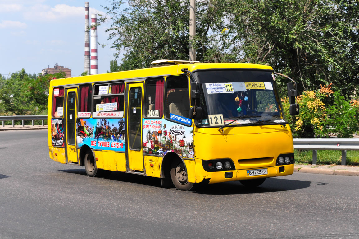
<svg viewBox="0 0 359 239"><path fill-rule="evenodd" d="M294 162L298 164L312 164L312 150L294 150ZM317 164L341 164L340 150L318 150ZM347 165L359 165L359 151L346 152Z"/></svg>

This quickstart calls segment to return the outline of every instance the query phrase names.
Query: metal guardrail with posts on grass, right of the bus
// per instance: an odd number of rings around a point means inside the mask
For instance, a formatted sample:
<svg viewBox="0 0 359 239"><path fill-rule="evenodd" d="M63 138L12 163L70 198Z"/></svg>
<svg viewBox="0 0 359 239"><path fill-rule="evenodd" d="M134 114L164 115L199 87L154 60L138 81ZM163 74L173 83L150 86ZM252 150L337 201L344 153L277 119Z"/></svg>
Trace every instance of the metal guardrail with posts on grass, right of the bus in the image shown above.
<svg viewBox="0 0 359 239"><path fill-rule="evenodd" d="M293 139L294 149L313 150L313 163L317 163L317 150L341 150L341 165L346 165L346 151L359 150L359 139Z"/></svg>

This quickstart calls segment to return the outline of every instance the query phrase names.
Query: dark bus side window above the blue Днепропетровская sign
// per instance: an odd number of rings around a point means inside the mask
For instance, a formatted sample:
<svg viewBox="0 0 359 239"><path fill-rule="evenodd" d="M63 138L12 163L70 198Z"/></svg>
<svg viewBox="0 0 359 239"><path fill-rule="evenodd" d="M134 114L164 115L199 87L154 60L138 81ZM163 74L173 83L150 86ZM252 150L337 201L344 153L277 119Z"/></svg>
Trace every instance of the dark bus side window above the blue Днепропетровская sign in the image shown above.
<svg viewBox="0 0 359 239"><path fill-rule="evenodd" d="M188 78L185 75L169 76L166 80L166 111L170 114L188 117L190 113L190 96L188 95Z"/></svg>

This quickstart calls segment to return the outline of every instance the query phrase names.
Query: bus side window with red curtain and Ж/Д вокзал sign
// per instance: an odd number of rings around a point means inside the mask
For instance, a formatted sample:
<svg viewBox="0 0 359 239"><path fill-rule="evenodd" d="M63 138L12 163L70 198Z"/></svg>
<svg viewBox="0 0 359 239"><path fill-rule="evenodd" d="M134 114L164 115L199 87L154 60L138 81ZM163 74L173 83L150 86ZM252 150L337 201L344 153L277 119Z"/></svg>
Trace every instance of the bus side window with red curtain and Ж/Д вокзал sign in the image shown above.
<svg viewBox="0 0 359 239"><path fill-rule="evenodd" d="M145 118L162 118L163 116L164 79L147 79L145 84L144 112Z"/></svg>

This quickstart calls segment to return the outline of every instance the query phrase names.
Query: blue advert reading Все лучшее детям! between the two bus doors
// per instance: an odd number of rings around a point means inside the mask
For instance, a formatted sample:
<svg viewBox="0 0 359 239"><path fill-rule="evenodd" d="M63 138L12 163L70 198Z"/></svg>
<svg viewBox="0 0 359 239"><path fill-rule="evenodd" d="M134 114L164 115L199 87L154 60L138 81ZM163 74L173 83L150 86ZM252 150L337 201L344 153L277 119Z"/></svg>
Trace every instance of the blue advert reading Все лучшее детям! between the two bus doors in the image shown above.
<svg viewBox="0 0 359 239"><path fill-rule="evenodd" d="M125 152L125 121L123 119L77 119L77 146Z"/></svg>

